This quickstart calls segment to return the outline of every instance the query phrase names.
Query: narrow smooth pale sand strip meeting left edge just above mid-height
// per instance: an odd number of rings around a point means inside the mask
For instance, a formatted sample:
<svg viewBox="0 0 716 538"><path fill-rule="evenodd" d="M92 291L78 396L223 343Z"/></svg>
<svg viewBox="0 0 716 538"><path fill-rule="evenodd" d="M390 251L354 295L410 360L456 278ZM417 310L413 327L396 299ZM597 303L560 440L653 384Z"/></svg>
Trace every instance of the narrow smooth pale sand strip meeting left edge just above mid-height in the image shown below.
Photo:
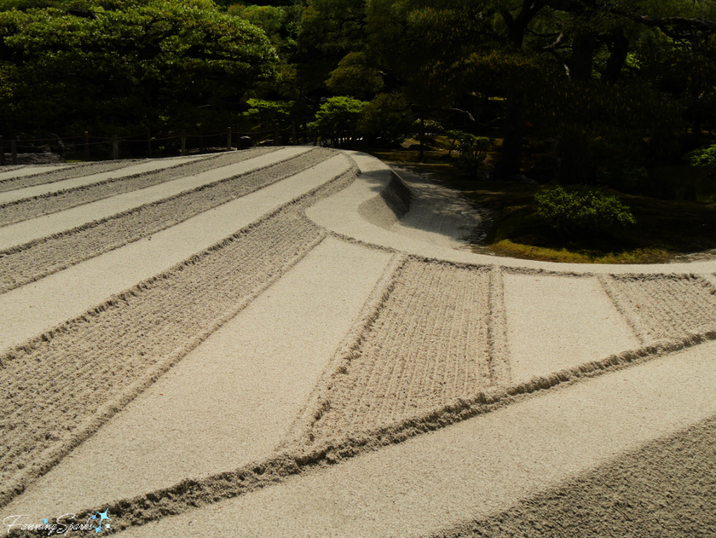
<svg viewBox="0 0 716 538"><path fill-rule="evenodd" d="M208 185L224 178L230 178L249 170L262 166L277 163L293 155L305 153L309 148L282 148L279 151L267 153L257 158L248 159L235 165L216 168L197 176L183 177L178 171L178 179L144 188L140 191L132 191L120 196L112 196L83 206L53 213L52 215L33 218L29 221L20 222L11 226L0 228L0 249L7 249L11 246L24 244L33 239L56 234L59 231L72 229L86 222L106 218L108 216L127 211L128 209L142 206L145 203L168 198L177 193L188 191L202 185Z"/></svg>

